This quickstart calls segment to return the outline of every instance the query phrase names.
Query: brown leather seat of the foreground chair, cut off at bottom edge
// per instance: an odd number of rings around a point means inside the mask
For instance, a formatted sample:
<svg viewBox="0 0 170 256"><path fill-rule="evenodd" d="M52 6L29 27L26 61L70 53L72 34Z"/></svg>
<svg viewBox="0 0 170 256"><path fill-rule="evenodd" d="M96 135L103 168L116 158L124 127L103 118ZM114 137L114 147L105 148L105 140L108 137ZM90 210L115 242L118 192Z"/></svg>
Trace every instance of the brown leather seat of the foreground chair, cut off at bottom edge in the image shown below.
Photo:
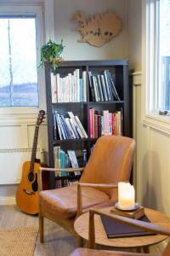
<svg viewBox="0 0 170 256"><path fill-rule="evenodd" d="M70 256L161 256L160 253L124 253L124 252L116 252L116 251L99 251L87 248L77 248Z"/></svg>

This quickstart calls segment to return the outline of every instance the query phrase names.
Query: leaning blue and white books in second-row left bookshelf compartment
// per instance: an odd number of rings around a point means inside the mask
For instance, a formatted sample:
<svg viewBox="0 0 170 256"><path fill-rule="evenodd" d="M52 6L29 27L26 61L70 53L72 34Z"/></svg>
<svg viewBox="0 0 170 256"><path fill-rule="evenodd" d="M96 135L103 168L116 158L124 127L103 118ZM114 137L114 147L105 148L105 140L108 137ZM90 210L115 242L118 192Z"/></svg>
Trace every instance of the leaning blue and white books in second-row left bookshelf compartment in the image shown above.
<svg viewBox="0 0 170 256"><path fill-rule="evenodd" d="M78 116L71 111L68 112L68 116L65 118L62 114L54 111L54 139L57 138L57 131L60 140L88 138Z"/></svg>

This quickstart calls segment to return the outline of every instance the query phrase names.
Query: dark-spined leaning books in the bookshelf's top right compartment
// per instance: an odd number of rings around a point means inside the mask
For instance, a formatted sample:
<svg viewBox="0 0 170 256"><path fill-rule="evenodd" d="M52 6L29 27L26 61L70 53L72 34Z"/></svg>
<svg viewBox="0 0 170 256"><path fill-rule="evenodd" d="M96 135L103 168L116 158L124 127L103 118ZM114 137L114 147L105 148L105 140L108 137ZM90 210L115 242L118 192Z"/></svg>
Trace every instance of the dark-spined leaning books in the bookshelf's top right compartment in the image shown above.
<svg viewBox="0 0 170 256"><path fill-rule="evenodd" d="M105 69L103 74L93 75L88 71L88 81L92 102L120 101L117 94L114 79L109 70Z"/></svg>

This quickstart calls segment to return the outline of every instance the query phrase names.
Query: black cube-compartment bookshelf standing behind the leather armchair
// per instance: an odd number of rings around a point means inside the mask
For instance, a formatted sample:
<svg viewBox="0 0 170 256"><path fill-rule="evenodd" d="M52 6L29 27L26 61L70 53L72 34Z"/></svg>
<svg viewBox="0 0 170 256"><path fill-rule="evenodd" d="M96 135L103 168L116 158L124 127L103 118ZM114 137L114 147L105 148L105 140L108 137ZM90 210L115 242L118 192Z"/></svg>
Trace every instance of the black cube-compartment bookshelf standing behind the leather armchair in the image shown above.
<svg viewBox="0 0 170 256"><path fill-rule="evenodd" d="M109 70L110 73L115 75L115 86L120 101L111 102L92 102L91 91L89 88L87 76L87 102L58 102L52 103L51 96L51 67L48 63L45 65L46 77L46 100L47 100L47 117L48 117L48 164L54 167L54 146L60 146L63 150L82 150L87 148L88 157L90 155L90 147L96 142L96 139L89 137L89 108L95 108L102 113L103 110L115 112L117 109L122 108L122 135L126 137L132 136L132 99L131 90L128 83L128 62L127 60L109 60L109 61L63 61L60 63L55 73L59 73L62 77L68 73L73 73L75 69L79 69L80 75L82 71L91 71L93 74L101 74L104 70ZM79 117L85 131L88 133L87 139L67 139L59 140L54 139L54 111L60 114L65 114L72 111ZM63 177L62 177L63 178Z"/></svg>

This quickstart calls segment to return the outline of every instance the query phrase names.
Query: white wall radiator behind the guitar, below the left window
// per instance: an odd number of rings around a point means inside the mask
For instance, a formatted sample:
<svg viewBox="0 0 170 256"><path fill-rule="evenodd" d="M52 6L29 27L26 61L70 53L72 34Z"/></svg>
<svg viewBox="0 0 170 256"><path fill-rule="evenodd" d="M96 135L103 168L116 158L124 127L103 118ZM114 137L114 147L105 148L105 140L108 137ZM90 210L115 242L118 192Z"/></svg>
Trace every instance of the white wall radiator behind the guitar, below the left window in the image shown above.
<svg viewBox="0 0 170 256"><path fill-rule="evenodd" d="M0 184L20 183L22 165L31 160L31 148L0 149ZM44 151L37 148L37 158L43 159Z"/></svg>

